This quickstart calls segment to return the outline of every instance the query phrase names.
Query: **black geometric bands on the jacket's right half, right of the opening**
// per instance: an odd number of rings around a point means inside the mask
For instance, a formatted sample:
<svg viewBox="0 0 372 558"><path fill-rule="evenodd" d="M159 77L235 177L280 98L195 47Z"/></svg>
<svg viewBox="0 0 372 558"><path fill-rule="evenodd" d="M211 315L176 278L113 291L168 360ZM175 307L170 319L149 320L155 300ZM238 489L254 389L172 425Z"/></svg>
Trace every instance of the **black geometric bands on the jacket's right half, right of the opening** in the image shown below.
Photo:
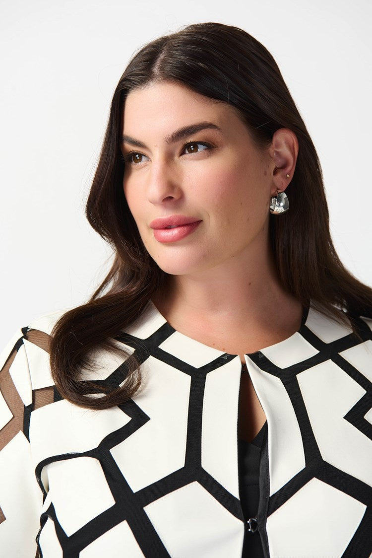
<svg viewBox="0 0 372 558"><path fill-rule="evenodd" d="M357 320L357 328L363 341L371 339L371 330L364 320L360 318ZM372 408L372 383L339 354L355 347L359 341L356 343L354 335L349 334L334 342L324 343L305 324L302 324L299 333L319 351L318 354L284 369L276 367L261 352L249 355L260 369L281 379L291 399L304 442L306 467L289 480L281 490L270 497L268 516L283 506L289 498L293 497L299 489L315 477L338 490L342 490L342 492L349 494L366 506L363 519L342 556L370 556L372 552L372 487L322 459L297 381L298 374L306 369L329 360L335 362L366 391L365 395L346 413L344 419L372 441L372 424L364 418L364 415ZM372 370L372 355L370 368ZM315 509L313 513L316 514L316 512Z"/></svg>

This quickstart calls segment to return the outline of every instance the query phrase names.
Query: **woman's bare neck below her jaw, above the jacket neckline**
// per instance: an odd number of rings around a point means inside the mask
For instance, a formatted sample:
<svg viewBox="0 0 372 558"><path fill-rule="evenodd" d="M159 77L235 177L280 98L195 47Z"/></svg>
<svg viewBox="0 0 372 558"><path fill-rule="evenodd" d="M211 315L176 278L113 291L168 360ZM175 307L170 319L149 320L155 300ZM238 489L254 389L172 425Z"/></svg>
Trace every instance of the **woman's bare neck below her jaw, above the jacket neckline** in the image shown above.
<svg viewBox="0 0 372 558"><path fill-rule="evenodd" d="M163 293L152 297L167 321L177 325L197 322L211 330L244 326L268 328L278 312L291 313L299 303L284 291L272 253L262 245L249 258L232 258L197 273L168 276ZM278 310L279 309L279 310ZM294 310L296 311L296 310Z"/></svg>

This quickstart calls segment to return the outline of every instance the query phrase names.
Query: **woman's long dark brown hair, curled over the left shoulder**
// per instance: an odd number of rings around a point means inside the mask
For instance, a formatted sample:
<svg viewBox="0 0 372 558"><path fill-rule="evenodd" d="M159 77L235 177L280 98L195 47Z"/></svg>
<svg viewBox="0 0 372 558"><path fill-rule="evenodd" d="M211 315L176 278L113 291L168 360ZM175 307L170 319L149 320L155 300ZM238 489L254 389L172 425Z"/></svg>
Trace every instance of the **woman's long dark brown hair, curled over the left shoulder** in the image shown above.
<svg viewBox="0 0 372 558"><path fill-rule="evenodd" d="M167 274L149 256L123 193L120 152L125 99L153 81L187 85L205 97L233 105L258 146L267 147L279 128L298 138L296 170L286 189L291 208L270 215L269 234L279 280L304 307L346 323L346 314L371 315L372 290L342 265L331 240L320 162L272 55L240 28L221 23L189 25L150 42L129 61L115 89L102 152L86 204L91 226L114 250L114 261L90 300L66 312L52 331L50 363L62 397L76 405L108 408L131 398L142 378L134 355L114 338L141 315ZM94 349L121 350L122 387L84 381ZM100 393L100 397L90 394Z"/></svg>

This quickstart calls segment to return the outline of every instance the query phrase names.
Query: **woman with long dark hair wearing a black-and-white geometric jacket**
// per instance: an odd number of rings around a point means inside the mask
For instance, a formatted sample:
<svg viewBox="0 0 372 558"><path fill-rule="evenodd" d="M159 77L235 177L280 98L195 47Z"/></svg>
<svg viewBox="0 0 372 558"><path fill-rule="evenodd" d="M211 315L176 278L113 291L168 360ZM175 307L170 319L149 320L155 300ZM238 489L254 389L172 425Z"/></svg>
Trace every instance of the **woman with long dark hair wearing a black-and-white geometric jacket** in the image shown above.
<svg viewBox="0 0 372 558"><path fill-rule="evenodd" d="M369 556L372 291L269 52L139 50L86 214L107 278L3 354L5 555Z"/></svg>

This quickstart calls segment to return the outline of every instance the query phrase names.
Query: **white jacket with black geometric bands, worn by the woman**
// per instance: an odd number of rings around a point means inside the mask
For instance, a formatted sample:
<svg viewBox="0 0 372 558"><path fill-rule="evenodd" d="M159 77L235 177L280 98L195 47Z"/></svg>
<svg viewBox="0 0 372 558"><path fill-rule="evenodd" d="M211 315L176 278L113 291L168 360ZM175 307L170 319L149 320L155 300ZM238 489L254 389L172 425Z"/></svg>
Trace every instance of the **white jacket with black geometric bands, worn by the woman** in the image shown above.
<svg viewBox="0 0 372 558"><path fill-rule="evenodd" d="M118 346L143 386L94 411L64 400L48 341L61 312L20 329L0 360L0 556L240 558L241 362L191 339L149 301ZM265 558L372 556L372 320L312 305L245 362L267 417L258 531ZM118 386L103 350L83 378Z"/></svg>

